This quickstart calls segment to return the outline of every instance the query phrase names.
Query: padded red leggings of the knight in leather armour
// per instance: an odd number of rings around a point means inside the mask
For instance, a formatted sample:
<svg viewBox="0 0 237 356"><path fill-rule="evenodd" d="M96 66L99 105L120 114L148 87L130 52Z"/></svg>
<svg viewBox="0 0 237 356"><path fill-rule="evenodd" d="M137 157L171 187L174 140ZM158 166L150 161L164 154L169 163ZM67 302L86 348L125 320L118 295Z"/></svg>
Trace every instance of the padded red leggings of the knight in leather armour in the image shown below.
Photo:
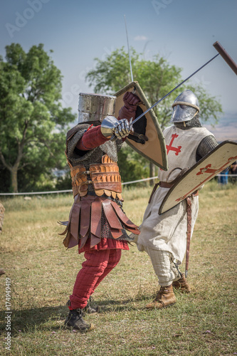
<svg viewBox="0 0 237 356"><path fill-rule="evenodd" d="M78 272L70 295L70 310L83 309L100 284L100 282L112 271L121 258L121 249L89 250L85 251L86 260Z"/></svg>

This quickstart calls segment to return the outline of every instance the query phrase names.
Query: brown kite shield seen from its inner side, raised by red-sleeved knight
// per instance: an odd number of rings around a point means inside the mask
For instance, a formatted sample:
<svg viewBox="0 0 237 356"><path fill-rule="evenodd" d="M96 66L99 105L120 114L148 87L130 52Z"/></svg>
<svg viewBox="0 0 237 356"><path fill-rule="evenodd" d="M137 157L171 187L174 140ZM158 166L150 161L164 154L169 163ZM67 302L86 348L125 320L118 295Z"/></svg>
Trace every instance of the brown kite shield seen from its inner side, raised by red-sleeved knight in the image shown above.
<svg viewBox="0 0 237 356"><path fill-rule="evenodd" d="M142 91L142 88L139 86L139 83L135 81L130 83L129 85L126 85L125 88L122 88L117 93L115 93L115 96L117 97L115 103L115 117L118 117L119 111L124 105L122 98L127 91L135 93L140 98L141 104L139 104L137 108L137 111L139 110L139 114L141 110L142 112L144 112L151 107ZM136 117L139 114L137 114ZM145 118L147 119L147 126L145 128L144 135L148 138L148 140L145 141L144 144L141 144L135 142L134 140L130 140L130 138L127 137L127 145L132 147L133 150L139 153L139 155L142 155L150 162L156 164L159 168L162 168L167 171L167 150L165 146L164 136L161 128L159 127L157 117L156 115L154 115L154 111L150 110L145 115ZM141 117L140 120L142 119L143 117Z"/></svg>

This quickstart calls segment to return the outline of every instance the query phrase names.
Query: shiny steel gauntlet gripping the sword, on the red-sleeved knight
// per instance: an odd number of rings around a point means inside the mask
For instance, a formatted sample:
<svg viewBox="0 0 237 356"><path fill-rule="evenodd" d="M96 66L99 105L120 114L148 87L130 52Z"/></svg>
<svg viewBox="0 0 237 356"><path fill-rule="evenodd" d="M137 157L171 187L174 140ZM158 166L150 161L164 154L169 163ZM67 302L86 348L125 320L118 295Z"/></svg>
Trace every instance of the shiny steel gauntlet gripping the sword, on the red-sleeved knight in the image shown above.
<svg viewBox="0 0 237 356"><path fill-rule="evenodd" d="M129 135L130 132L133 132L132 124L126 119L117 120L114 116L107 116L102 120L100 126L102 135L107 138L110 138L112 135L115 135L116 138L124 138Z"/></svg>

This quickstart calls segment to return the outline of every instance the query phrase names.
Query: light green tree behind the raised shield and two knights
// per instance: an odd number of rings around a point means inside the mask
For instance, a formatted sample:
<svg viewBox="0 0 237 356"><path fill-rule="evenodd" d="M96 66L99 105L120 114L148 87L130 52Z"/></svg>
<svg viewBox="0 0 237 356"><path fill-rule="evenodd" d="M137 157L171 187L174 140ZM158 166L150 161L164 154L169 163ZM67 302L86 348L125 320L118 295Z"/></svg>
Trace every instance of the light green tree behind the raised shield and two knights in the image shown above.
<svg viewBox="0 0 237 356"><path fill-rule="evenodd" d="M181 83L181 68L170 65L165 58L162 58L158 54L152 58L152 61L147 61L144 60L142 53L139 54L134 48L131 48L130 55L133 77L139 82L151 105ZM122 47L113 51L107 56L105 61L95 58L95 69L88 72L86 80L88 80L90 86L93 86L95 93L113 95L130 83L128 53ZM197 85L196 87L188 86L199 98L201 120L206 121L212 117L217 122L218 114L222 112L221 104L214 97L211 97L201 85ZM171 95L168 95L159 105L153 108L162 130L169 125L174 99L185 88L186 86L182 85L179 90L174 90ZM140 161L141 156L136 155L137 161ZM135 159L134 155L132 159ZM142 167L141 165L141 172L143 172ZM154 164L150 164L149 174L150 177L154 176Z"/></svg>

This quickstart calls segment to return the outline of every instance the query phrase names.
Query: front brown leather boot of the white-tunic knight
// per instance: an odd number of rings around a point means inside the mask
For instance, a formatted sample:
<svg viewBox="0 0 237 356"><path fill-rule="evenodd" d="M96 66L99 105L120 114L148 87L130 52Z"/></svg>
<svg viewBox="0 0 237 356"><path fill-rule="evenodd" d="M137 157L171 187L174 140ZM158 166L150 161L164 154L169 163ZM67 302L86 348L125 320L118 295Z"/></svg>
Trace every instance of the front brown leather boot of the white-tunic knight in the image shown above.
<svg viewBox="0 0 237 356"><path fill-rule="evenodd" d="M172 284L167 287L161 287L156 298L152 303L146 305L147 309L162 309L176 303Z"/></svg>

